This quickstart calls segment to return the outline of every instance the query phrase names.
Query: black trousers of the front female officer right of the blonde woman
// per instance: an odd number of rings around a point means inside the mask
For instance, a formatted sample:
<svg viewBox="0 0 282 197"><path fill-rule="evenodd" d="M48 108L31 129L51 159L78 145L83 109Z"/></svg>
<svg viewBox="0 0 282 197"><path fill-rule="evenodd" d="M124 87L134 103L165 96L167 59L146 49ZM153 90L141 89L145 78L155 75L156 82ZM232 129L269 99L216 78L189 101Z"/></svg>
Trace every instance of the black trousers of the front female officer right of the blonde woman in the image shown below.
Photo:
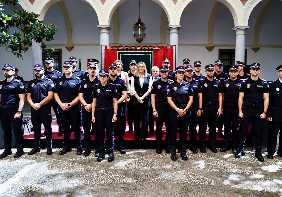
<svg viewBox="0 0 282 197"><path fill-rule="evenodd" d="M176 146L176 136L179 128L180 136L180 146L187 146L187 133L191 120L191 111L190 109L182 117L177 118L178 113L175 109L171 109L169 113L169 118L171 120L171 146Z"/></svg>

